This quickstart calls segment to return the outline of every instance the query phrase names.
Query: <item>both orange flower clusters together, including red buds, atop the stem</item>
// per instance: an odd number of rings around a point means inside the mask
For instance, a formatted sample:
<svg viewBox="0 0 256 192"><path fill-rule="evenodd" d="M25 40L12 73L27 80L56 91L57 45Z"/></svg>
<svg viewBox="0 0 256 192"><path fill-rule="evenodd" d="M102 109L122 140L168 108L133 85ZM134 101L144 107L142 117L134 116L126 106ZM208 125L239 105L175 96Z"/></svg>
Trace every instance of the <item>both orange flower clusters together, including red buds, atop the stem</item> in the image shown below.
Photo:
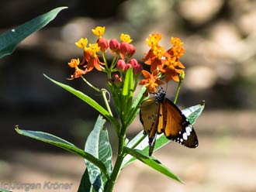
<svg viewBox="0 0 256 192"><path fill-rule="evenodd" d="M152 33L146 39L147 45L150 50L145 54L142 59L145 64L150 65L150 72L143 70L143 67L138 61L133 58L135 47L131 44L133 39L128 34L121 34L120 41L117 39L106 39L103 37L105 27L97 26L92 29L92 33L98 37L95 43L88 43L87 38L81 38L76 42L76 46L84 51L84 57L81 60L72 59L68 63L69 67L74 68L74 74L71 75L71 80L81 77L84 74L96 70L105 72L109 78L109 84L121 87L123 83L123 75L126 70L133 68L135 78L139 78L143 74L144 79L140 81L141 85L147 87L148 93L155 93L157 86L164 84L161 78L165 81L170 80L180 81L184 75L185 67L181 63L185 49L182 48L182 41L177 37L171 37L171 48L164 50L164 47L159 45L161 34ZM111 64L107 63L106 52L112 54ZM102 53L102 61L100 60L99 53ZM81 67L80 67L81 66ZM136 83L138 81L135 81ZM134 84L136 87L137 84Z"/></svg>

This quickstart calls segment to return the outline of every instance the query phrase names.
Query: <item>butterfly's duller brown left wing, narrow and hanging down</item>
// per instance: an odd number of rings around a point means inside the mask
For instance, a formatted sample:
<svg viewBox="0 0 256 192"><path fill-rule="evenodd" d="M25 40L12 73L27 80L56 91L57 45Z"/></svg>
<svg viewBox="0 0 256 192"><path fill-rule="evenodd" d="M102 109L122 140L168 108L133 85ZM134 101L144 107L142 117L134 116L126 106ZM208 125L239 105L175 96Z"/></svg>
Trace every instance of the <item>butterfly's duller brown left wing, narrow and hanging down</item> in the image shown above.
<svg viewBox="0 0 256 192"><path fill-rule="evenodd" d="M140 122L144 126L144 133L148 134L149 155L153 153L154 143L157 139L157 125L159 121L160 104L155 98L149 98L140 105Z"/></svg>

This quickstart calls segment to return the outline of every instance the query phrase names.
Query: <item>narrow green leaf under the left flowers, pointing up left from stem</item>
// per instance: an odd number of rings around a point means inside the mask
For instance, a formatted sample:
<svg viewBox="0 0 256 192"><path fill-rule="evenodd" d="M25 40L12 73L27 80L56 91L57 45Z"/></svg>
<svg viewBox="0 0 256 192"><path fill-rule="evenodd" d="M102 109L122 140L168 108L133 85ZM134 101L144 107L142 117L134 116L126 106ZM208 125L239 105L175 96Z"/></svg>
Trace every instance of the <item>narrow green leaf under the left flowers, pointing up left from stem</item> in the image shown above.
<svg viewBox="0 0 256 192"><path fill-rule="evenodd" d="M47 75L44 74L45 77ZM57 84L58 86L64 88L65 90L69 91L71 94L74 94L78 98L80 98L82 101L85 101L88 105L90 105L92 108L95 108L95 110L99 111L104 117L106 117L112 124L114 125L114 128L116 132L119 128L119 122L117 122L116 118L113 118L112 115L109 114L109 111L107 111L105 108L103 108L101 105L99 105L96 101L94 101L92 98L88 97L86 94L82 93L81 91L78 91L74 89L73 87L68 86L67 84L61 84L58 81L54 81L50 77L47 77L50 81L54 82L54 84Z"/></svg>

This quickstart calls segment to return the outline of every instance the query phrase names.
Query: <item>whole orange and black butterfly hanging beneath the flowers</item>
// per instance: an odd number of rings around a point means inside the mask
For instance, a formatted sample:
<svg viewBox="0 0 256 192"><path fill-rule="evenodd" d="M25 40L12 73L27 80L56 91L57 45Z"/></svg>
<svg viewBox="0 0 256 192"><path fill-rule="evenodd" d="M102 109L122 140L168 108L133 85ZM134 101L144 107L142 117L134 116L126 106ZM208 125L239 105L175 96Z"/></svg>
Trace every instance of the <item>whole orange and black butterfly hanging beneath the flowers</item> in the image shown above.
<svg viewBox="0 0 256 192"><path fill-rule="evenodd" d="M166 91L160 89L140 105L140 122L144 134L148 134L149 156L154 151L157 134L164 135L183 146L195 148L199 145L197 136L189 119L168 98Z"/></svg>

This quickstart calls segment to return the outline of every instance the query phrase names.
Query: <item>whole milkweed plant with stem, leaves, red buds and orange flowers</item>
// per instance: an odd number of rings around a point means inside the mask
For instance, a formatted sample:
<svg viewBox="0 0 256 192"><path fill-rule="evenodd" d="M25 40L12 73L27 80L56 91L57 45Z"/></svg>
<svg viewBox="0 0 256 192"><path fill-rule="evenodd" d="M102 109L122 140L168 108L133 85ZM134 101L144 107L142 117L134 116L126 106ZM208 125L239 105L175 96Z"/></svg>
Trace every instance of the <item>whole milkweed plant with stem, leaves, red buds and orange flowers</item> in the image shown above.
<svg viewBox="0 0 256 192"><path fill-rule="evenodd" d="M54 81L45 75L54 84L85 102L85 110L88 110L88 105L90 105L99 112L94 128L85 127L85 129L92 129L86 139L85 148L80 149L71 142L47 132L19 129L19 126L16 126L16 132L50 143L85 159L86 169L81 177L78 191L114 190L121 170L136 159L165 176L182 182L160 160L149 156L148 138L144 134L142 125L137 125L141 127L141 131L133 139L127 139L126 136L130 124L140 112L140 105L150 95L156 93L161 85L168 84L170 81L177 82L177 91L174 94L174 103L176 103L182 81L185 79L185 66L180 60L185 51L181 39L171 37L170 47L166 50L160 44L161 34L151 33L146 39L147 46L149 46L147 53L144 58L137 60L133 57L136 47L133 46L133 39L129 34L121 33L119 37L106 39L105 29L104 26L92 29L95 35L93 40L79 39L74 49L81 49L81 58L74 58L67 62L67 67L73 70L71 76L67 77L67 81L83 81L86 87L92 88L95 94L102 96L104 105L99 105L86 93ZM149 70L146 70L147 68ZM99 75L105 78L107 89L88 81L87 74L93 70L98 70ZM113 105L109 105L110 100ZM195 105L185 108L182 113L193 124L201 114L203 107L204 105ZM105 126L106 121L111 123L108 128ZM114 130L118 140L116 154L112 154L109 129ZM154 151L168 142L170 140L164 134L157 135ZM115 161L113 161L113 156L115 156Z"/></svg>

